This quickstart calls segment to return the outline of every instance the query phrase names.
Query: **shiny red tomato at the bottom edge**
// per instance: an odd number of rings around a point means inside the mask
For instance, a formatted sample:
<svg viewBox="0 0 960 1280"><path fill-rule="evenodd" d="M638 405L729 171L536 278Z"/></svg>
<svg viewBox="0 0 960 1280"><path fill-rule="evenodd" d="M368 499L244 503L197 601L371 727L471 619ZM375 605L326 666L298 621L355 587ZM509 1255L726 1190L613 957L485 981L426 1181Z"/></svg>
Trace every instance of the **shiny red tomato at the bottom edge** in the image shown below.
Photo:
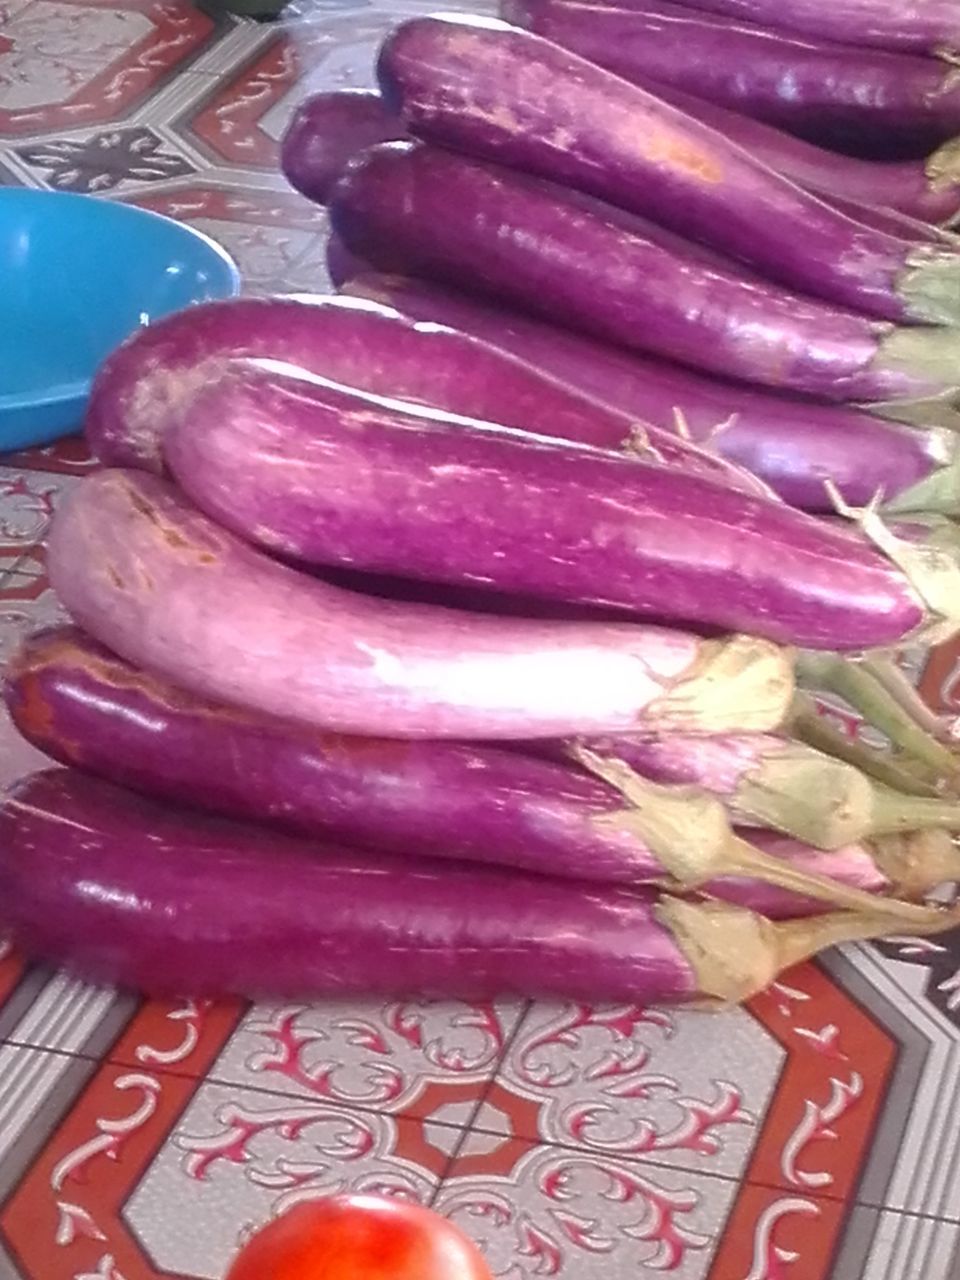
<svg viewBox="0 0 960 1280"><path fill-rule="evenodd" d="M227 1280L492 1280L447 1219L406 1201L338 1196L259 1231Z"/></svg>

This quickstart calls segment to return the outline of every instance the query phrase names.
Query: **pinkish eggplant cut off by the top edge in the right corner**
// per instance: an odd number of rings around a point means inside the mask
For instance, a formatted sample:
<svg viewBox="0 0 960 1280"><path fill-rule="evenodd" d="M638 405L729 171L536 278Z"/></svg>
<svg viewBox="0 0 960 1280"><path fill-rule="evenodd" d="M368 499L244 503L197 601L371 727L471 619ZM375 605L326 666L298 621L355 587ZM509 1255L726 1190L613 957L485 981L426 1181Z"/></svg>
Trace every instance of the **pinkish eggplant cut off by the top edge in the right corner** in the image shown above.
<svg viewBox="0 0 960 1280"><path fill-rule="evenodd" d="M618 3L630 8L632 0ZM960 54L956 0L696 0L690 8L844 45Z"/></svg>

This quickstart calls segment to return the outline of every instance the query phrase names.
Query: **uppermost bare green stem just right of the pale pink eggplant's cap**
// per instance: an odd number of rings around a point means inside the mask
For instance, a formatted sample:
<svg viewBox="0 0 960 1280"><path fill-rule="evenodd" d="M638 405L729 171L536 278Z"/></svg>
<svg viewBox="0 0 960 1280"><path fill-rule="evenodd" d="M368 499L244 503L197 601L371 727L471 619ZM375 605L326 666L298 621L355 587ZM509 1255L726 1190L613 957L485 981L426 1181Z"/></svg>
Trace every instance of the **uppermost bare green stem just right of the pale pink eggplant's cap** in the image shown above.
<svg viewBox="0 0 960 1280"><path fill-rule="evenodd" d="M842 698L908 756L947 778L960 772L960 758L922 728L863 663L840 654L803 653L797 676L805 685Z"/></svg>

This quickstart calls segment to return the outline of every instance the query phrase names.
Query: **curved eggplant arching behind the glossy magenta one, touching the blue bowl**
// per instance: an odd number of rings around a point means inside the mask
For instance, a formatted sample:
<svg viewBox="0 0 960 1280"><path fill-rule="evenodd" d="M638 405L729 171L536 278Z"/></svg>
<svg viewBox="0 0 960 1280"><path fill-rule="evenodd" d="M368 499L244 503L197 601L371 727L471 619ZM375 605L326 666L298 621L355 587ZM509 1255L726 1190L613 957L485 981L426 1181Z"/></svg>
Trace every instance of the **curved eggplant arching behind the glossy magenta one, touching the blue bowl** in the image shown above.
<svg viewBox="0 0 960 1280"><path fill-rule="evenodd" d="M161 474L166 416L196 367L214 357L284 361L334 381L507 426L680 466L767 494L749 471L588 399L503 347L421 324L366 300L296 296L191 307L138 330L97 372L87 408L92 451L110 466Z"/></svg>

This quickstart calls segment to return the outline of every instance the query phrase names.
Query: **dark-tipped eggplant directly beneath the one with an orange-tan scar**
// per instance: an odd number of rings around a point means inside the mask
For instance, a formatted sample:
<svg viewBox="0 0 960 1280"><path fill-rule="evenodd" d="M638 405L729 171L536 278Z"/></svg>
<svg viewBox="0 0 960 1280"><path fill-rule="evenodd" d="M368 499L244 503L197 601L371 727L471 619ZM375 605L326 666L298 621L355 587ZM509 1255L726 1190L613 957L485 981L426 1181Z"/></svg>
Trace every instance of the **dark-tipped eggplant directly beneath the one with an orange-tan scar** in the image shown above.
<svg viewBox="0 0 960 1280"><path fill-rule="evenodd" d="M620 211L426 143L357 156L330 205L378 268L481 292L726 378L840 401L955 399L960 334L882 324L681 255Z"/></svg>

